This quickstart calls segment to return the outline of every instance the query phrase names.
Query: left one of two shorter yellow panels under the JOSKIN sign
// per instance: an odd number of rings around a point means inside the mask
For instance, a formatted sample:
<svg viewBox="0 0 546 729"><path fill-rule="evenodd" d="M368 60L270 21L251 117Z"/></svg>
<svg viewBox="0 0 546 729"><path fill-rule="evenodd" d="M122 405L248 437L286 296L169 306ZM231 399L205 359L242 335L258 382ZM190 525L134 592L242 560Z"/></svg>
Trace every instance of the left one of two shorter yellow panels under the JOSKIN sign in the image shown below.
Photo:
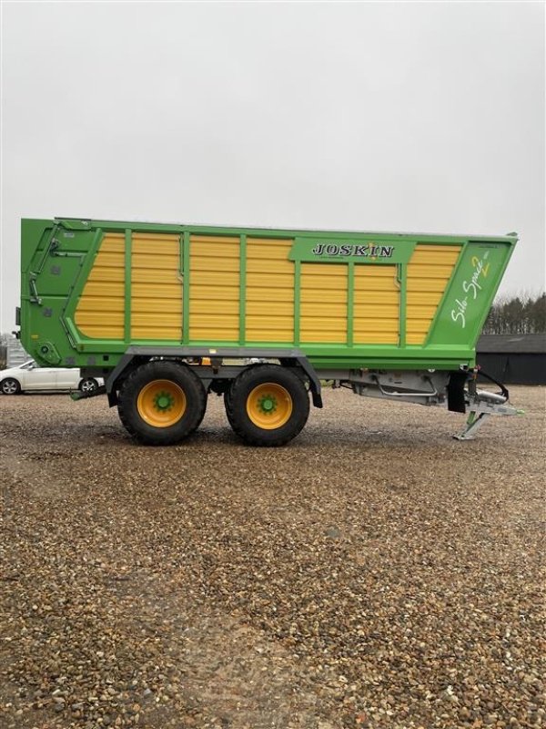
<svg viewBox="0 0 546 729"><path fill-rule="evenodd" d="M301 342L347 341L349 268L337 263L301 264ZM329 300L325 300L325 291Z"/></svg>

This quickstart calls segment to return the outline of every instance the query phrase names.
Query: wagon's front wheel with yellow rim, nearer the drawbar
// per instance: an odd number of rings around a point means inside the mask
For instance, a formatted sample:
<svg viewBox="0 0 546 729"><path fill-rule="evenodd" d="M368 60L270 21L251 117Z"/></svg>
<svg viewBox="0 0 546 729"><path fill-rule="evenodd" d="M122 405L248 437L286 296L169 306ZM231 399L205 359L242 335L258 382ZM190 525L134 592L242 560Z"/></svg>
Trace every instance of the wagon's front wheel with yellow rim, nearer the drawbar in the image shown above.
<svg viewBox="0 0 546 729"><path fill-rule="evenodd" d="M257 413L260 397L268 400L268 395L261 395L268 388L280 393L284 402L278 403L277 410L276 398L270 398L271 410ZM298 436L309 416L306 386L298 375L278 364L254 364L243 370L224 396L224 404L229 425L249 446L284 446Z"/></svg>

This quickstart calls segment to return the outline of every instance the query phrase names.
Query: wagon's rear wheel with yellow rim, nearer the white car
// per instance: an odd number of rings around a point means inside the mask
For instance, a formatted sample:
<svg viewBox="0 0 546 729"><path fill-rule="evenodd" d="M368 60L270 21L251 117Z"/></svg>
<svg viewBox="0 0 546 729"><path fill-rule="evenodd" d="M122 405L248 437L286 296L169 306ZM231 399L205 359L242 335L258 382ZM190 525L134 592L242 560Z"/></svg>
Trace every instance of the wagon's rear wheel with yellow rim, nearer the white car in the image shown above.
<svg viewBox="0 0 546 729"><path fill-rule="evenodd" d="M160 385L161 383L165 385ZM161 386L174 395L172 406L161 406L167 422L157 425L152 422L155 414L146 419L149 416L149 409L146 407L149 407L150 397L153 398L153 388ZM156 395L155 403L158 403L159 396ZM181 407L180 400L183 401ZM121 422L131 436L146 446L172 446L180 443L197 430L206 409L207 393L201 380L189 367L177 362L155 361L142 364L126 378L118 394L117 412ZM169 416L171 410L174 410L174 414ZM162 415L157 417L160 416Z"/></svg>

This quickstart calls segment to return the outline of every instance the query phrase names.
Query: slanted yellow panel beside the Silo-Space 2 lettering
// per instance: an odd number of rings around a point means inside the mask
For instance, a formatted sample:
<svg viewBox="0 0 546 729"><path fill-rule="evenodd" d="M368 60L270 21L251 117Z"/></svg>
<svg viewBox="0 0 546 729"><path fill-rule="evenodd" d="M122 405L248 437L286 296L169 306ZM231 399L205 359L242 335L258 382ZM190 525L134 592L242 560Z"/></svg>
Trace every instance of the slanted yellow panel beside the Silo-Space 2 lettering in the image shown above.
<svg viewBox="0 0 546 729"><path fill-rule="evenodd" d="M408 265L406 341L423 344L450 281L460 246L418 243Z"/></svg>

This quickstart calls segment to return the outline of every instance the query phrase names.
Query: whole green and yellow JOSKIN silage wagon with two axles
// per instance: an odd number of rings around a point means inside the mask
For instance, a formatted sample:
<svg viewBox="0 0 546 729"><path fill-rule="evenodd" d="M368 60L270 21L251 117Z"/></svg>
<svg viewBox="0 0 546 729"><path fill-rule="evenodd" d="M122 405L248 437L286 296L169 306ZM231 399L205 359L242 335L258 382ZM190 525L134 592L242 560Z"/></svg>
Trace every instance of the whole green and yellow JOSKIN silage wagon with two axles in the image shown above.
<svg viewBox="0 0 546 729"><path fill-rule="evenodd" d="M96 392L148 445L195 431L208 393L248 444L283 445L326 381L468 412L466 439L516 412L475 369L516 241L24 220L21 340L39 364L105 378Z"/></svg>

